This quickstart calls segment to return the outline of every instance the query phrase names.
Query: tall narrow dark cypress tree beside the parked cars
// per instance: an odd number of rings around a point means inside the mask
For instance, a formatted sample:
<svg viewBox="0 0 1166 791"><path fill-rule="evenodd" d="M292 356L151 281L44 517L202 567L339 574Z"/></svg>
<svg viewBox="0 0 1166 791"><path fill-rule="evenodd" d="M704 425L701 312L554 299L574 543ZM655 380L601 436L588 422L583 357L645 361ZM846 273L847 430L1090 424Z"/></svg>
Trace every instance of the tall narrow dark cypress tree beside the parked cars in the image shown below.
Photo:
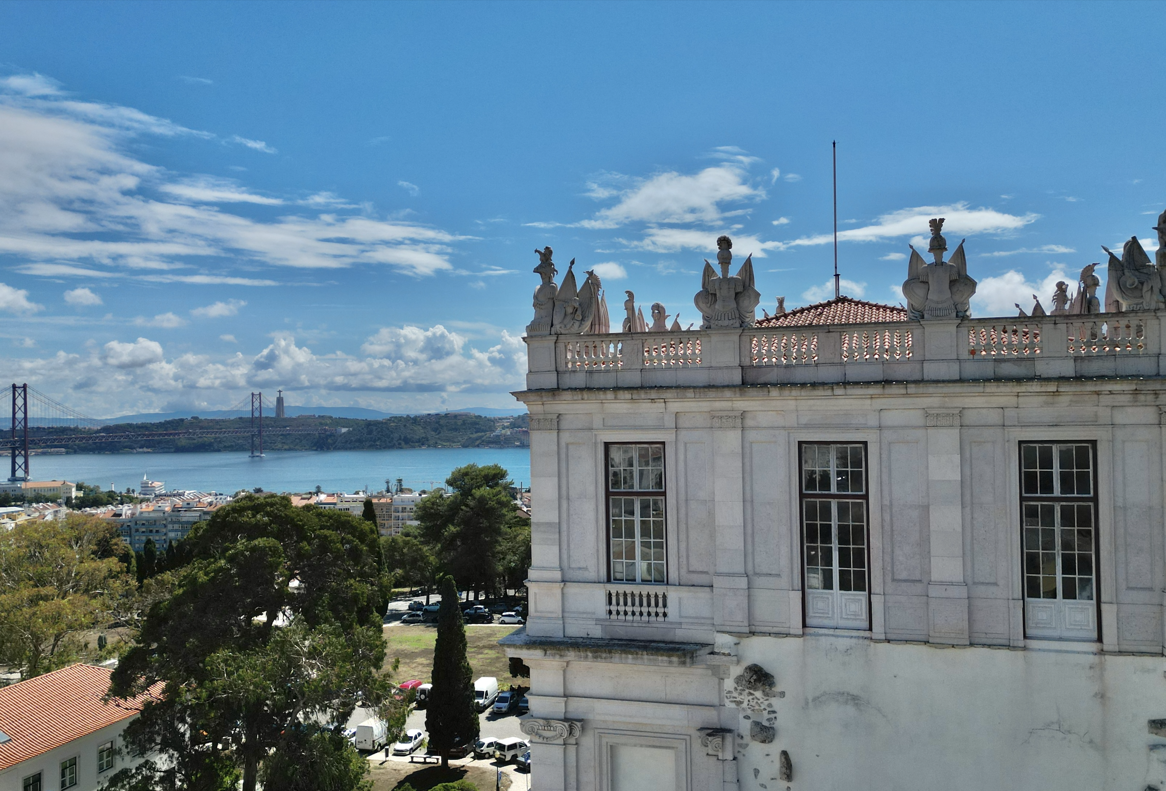
<svg viewBox="0 0 1166 791"><path fill-rule="evenodd" d="M465 658L465 622L457 606L454 578L440 582L437 644L434 646L433 690L426 709L429 748L449 766L449 754L478 741L478 713L473 707L473 671Z"/></svg>

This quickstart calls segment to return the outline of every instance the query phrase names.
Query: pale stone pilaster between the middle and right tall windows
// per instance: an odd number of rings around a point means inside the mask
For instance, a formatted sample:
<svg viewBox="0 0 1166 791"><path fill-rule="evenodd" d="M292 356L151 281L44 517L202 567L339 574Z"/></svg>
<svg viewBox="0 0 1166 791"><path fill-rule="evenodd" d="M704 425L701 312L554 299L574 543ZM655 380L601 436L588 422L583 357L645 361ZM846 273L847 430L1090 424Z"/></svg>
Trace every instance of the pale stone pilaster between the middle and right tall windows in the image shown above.
<svg viewBox="0 0 1166 791"><path fill-rule="evenodd" d="M968 644L968 586L963 579L960 410L927 411L927 503L930 576L928 640Z"/></svg>

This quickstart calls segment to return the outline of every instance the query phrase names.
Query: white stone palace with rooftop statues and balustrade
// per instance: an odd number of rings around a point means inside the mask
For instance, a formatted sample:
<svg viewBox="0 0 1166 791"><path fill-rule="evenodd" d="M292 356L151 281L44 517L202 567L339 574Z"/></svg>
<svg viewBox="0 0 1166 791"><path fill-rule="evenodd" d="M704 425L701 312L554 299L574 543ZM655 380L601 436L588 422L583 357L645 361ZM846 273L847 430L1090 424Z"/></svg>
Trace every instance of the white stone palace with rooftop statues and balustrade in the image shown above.
<svg viewBox="0 0 1166 791"><path fill-rule="evenodd" d="M1166 789L1166 231L1002 318L941 231L763 318L723 237L690 330L540 252L532 788Z"/></svg>

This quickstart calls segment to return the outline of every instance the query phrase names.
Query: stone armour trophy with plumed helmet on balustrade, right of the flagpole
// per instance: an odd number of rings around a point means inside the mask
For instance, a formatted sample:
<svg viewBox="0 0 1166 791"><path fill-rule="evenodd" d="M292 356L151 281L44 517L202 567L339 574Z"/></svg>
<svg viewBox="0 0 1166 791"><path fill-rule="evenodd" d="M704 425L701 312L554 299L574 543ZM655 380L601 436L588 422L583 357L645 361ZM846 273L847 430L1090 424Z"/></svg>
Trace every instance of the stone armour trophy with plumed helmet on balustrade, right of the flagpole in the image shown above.
<svg viewBox="0 0 1166 791"><path fill-rule="evenodd" d="M932 240L927 252L935 257L934 264L923 260L911 245L911 260L907 262L907 279L902 284L902 295L907 299L907 317L921 318L967 318L971 315L968 302L976 293L976 281L968 276L968 259L963 252L963 240L943 260L947 252L947 239L943 230L943 217L929 220Z"/></svg>

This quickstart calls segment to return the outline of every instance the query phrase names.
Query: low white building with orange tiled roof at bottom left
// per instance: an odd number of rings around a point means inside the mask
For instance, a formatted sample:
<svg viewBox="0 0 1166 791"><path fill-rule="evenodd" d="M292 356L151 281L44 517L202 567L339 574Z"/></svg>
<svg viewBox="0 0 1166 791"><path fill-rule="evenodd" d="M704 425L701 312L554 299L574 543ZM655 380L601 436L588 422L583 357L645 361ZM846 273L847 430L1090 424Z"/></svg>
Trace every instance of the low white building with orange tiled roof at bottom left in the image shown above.
<svg viewBox="0 0 1166 791"><path fill-rule="evenodd" d="M70 665L0 688L0 791L96 791L139 763L121 734L143 699L106 702L112 672Z"/></svg>

